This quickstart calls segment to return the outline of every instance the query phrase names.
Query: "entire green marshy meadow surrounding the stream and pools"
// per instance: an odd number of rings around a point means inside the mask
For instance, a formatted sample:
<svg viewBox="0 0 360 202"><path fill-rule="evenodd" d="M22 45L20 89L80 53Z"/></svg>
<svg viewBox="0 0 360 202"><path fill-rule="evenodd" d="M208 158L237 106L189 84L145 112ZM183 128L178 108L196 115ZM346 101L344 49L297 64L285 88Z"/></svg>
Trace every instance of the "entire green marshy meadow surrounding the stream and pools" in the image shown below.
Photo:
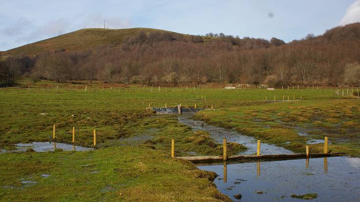
<svg viewBox="0 0 360 202"><path fill-rule="evenodd" d="M22 81L24 86L30 83ZM154 115L146 110L149 103L151 107L214 105L214 111L198 112L194 118L294 152L305 152L307 139L299 132L313 138L329 136L332 152L360 156L360 100L346 96L346 90L345 96L337 96L334 89L161 87L159 92L157 87L151 91L151 87L126 85L114 85L110 90L109 84L101 83L41 81L37 85L30 90L0 89L0 149L10 151L16 143L48 141L53 125L59 141L71 142L74 126L76 144L89 147L96 129L97 149L0 154L1 201L229 201L208 180L213 174L169 157L171 138L178 156L189 152L221 155L221 145L208 133L179 124L176 115ZM283 96L297 101L271 103L274 95L280 101ZM300 96L302 100L298 100ZM120 146L119 138L141 135L153 139ZM237 145L229 154L244 149ZM322 144L311 145L311 152L321 150ZM50 176L42 178L41 174ZM37 183L24 186L21 179Z"/></svg>

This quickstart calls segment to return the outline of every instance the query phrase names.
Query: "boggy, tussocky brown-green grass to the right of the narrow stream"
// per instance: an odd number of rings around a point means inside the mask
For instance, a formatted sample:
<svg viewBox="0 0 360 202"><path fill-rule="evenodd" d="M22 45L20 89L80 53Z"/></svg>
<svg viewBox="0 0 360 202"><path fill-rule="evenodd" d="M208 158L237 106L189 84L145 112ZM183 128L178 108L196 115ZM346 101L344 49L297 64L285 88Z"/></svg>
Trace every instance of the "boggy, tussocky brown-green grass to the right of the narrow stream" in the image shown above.
<svg viewBox="0 0 360 202"><path fill-rule="evenodd" d="M202 111L196 118L294 152L304 152L309 139L329 136L329 150L359 157L359 112L357 99L303 100ZM299 135L302 132L306 134ZM321 152L323 144L310 145L310 149Z"/></svg>

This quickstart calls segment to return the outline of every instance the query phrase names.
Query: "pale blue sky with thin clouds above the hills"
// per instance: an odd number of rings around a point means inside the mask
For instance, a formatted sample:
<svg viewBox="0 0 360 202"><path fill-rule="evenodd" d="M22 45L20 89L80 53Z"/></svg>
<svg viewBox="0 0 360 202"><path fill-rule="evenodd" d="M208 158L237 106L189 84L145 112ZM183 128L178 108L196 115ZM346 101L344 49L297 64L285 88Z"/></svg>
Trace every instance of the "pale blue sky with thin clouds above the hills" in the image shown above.
<svg viewBox="0 0 360 202"><path fill-rule="evenodd" d="M286 42L360 22L360 0L0 0L0 50L82 28L149 27Z"/></svg>

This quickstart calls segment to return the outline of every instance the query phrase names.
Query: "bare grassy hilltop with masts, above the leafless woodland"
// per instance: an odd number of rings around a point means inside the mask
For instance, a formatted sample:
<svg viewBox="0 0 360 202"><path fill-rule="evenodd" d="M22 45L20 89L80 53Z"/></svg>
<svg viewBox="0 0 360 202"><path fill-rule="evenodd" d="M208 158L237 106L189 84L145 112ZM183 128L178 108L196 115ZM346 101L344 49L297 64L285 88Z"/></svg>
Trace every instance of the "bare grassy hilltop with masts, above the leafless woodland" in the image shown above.
<svg viewBox="0 0 360 202"><path fill-rule="evenodd" d="M83 50L87 48L95 48L98 45L121 44L126 37L137 35L140 31L158 31L160 33L173 33L165 30L151 28L130 28L130 29L101 29L89 28L80 29L74 32L42 40L39 42L23 45L7 51L3 51L2 55L35 55L46 51L55 51L59 49L65 50ZM179 34L184 38L189 35ZM204 37L205 38L205 37ZM206 37L209 38L209 37Z"/></svg>

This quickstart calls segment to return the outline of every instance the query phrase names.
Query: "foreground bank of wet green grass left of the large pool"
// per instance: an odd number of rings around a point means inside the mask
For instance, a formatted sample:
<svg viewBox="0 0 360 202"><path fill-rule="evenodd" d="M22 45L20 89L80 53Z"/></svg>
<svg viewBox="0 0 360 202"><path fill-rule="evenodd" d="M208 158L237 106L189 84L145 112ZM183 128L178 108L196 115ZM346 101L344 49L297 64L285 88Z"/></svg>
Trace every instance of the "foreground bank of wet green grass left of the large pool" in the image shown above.
<svg viewBox="0 0 360 202"><path fill-rule="evenodd" d="M143 147L1 154L0 174L3 202L230 201L210 181L215 173Z"/></svg>

